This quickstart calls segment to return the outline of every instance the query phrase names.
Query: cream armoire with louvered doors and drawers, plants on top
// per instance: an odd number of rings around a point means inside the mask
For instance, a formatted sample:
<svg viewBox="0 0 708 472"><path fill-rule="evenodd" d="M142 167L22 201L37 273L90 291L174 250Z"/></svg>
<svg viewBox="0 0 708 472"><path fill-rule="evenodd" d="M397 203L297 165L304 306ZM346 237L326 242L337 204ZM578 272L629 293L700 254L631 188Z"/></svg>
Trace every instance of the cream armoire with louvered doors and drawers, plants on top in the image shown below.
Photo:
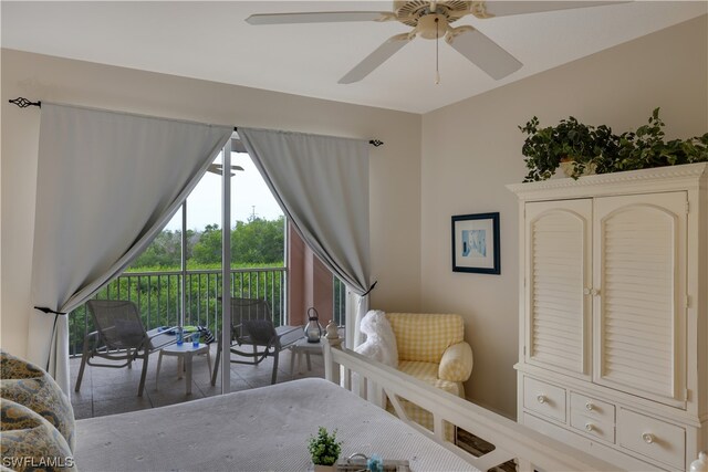
<svg viewBox="0 0 708 472"><path fill-rule="evenodd" d="M708 164L510 185L518 420L627 470L708 451Z"/></svg>

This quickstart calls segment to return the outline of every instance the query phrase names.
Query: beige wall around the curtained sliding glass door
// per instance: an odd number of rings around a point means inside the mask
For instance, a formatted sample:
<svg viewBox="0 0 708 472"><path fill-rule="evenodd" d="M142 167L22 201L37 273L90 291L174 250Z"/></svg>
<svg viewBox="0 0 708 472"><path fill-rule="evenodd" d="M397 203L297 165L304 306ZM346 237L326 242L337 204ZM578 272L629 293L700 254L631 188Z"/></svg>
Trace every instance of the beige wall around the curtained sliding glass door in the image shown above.
<svg viewBox="0 0 708 472"><path fill-rule="evenodd" d="M372 261L373 275L379 281L372 303L383 310L418 308L419 115L9 50L2 50L1 95L3 348L25 355L31 310L40 111L8 104L17 96L207 123L382 139L385 145L371 153Z"/></svg>

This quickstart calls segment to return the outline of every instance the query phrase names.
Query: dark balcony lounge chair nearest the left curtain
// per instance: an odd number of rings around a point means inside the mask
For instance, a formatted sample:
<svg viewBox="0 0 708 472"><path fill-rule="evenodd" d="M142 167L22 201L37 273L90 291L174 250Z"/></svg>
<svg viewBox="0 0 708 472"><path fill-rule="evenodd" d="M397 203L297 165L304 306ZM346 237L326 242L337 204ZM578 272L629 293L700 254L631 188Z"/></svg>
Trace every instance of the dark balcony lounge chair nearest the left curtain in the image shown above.
<svg viewBox="0 0 708 472"><path fill-rule="evenodd" d="M86 307L94 321L96 331L84 337L83 357L76 378L75 391L81 388L86 364L93 367L132 368L133 361L143 359L143 371L137 396L143 396L147 360L149 355L165 346L176 343L176 336L168 331L145 331L137 306L123 300L90 300ZM93 357L123 364L92 363Z"/></svg>

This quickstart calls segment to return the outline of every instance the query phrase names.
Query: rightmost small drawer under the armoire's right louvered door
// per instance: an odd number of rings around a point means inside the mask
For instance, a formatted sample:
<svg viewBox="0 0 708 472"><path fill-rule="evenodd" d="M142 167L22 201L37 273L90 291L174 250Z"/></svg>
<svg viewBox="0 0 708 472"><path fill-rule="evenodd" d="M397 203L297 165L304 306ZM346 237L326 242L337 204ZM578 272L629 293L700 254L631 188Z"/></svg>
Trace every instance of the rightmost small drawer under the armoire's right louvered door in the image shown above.
<svg viewBox="0 0 708 472"><path fill-rule="evenodd" d="M686 430L656 418L620 408L617 443L676 469L686 465Z"/></svg>

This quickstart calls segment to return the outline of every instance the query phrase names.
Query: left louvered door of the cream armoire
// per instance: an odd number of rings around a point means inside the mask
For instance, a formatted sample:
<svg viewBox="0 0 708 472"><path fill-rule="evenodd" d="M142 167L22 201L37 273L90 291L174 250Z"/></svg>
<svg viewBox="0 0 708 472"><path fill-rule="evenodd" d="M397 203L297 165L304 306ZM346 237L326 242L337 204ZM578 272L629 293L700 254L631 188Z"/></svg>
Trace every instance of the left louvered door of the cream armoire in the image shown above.
<svg viewBox="0 0 708 472"><path fill-rule="evenodd" d="M592 200L525 206L525 361L590 376Z"/></svg>

